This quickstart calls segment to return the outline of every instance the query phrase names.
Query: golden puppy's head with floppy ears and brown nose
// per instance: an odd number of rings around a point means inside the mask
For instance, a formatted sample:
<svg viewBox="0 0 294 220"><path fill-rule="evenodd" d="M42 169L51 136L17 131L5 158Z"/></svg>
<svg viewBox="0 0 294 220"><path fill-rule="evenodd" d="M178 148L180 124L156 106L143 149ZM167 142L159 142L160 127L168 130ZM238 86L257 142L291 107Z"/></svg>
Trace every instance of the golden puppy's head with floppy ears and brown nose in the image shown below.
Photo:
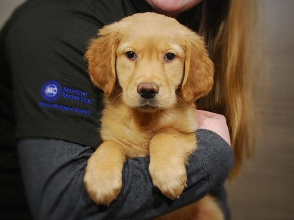
<svg viewBox="0 0 294 220"><path fill-rule="evenodd" d="M85 58L106 97L116 83L125 105L154 111L178 99L194 104L213 86L213 64L201 38L175 19L135 14L103 27Z"/></svg>

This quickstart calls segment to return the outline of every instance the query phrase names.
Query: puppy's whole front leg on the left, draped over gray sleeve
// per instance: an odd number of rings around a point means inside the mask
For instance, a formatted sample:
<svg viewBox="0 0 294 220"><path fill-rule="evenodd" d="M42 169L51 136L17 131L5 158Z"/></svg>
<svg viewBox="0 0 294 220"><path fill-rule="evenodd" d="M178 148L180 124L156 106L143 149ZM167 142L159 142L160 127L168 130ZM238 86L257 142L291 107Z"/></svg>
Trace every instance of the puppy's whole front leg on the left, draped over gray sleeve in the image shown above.
<svg viewBox="0 0 294 220"><path fill-rule="evenodd" d="M112 141L103 142L89 158L84 184L97 205L109 205L122 189L123 148Z"/></svg>

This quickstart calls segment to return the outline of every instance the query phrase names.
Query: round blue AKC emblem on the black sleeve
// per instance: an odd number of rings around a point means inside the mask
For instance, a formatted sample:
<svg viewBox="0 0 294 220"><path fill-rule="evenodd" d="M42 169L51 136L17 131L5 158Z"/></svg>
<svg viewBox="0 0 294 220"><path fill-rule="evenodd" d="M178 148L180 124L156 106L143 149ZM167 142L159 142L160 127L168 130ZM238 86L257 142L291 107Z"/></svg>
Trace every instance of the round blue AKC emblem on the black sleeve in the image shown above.
<svg viewBox="0 0 294 220"><path fill-rule="evenodd" d="M50 80L43 85L41 95L45 100L52 102L59 98L61 91L61 85L55 80Z"/></svg>

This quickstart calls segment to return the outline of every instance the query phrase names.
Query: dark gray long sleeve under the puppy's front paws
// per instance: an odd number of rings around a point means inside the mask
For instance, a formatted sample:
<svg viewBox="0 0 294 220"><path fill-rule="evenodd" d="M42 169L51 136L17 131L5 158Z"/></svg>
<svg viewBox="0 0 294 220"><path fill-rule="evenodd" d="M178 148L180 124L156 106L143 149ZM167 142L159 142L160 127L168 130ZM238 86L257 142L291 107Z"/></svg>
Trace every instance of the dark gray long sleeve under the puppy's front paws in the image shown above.
<svg viewBox="0 0 294 220"><path fill-rule="evenodd" d="M172 201L153 187L148 174L149 158L136 157L126 160L122 191L106 207L96 206L83 184L93 148L62 140L22 139L18 152L33 217L37 220L141 220L192 203L219 187L234 163L231 147L218 134L198 130L197 141L198 149L190 156L187 166L188 187L179 199ZM221 203L224 213L228 213L225 197Z"/></svg>

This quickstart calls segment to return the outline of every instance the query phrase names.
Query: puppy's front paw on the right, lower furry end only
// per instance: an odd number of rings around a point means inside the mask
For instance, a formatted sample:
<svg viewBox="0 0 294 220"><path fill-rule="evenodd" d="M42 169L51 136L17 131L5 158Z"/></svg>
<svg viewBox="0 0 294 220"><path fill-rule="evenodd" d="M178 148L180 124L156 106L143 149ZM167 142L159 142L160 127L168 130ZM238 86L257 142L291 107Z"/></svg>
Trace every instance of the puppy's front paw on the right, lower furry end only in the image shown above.
<svg viewBox="0 0 294 220"><path fill-rule="evenodd" d="M150 161L149 173L153 185L168 198L179 198L187 182L187 173L184 163L162 163Z"/></svg>

